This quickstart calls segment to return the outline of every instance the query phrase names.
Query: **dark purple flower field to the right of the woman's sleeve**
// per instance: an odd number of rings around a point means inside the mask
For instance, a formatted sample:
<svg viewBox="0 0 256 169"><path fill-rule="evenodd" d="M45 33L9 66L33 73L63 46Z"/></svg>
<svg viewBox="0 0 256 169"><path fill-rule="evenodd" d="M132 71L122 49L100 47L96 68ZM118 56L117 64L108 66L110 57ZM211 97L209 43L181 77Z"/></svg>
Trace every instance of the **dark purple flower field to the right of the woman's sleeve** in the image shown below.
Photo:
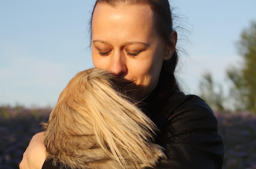
<svg viewBox="0 0 256 169"><path fill-rule="evenodd" d="M256 115L215 114L225 143L223 169L256 169Z"/></svg>

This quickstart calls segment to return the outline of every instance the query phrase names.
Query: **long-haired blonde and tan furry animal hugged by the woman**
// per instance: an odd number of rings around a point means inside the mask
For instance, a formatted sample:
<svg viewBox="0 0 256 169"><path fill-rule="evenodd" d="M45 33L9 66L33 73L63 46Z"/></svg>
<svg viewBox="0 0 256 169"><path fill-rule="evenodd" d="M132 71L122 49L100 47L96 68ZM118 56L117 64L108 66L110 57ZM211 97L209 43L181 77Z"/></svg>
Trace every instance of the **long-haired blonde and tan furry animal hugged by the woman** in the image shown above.
<svg viewBox="0 0 256 169"><path fill-rule="evenodd" d="M165 158L162 147L151 143L154 123L121 94L118 83L98 68L70 80L42 123L47 160L71 169L141 169Z"/></svg>

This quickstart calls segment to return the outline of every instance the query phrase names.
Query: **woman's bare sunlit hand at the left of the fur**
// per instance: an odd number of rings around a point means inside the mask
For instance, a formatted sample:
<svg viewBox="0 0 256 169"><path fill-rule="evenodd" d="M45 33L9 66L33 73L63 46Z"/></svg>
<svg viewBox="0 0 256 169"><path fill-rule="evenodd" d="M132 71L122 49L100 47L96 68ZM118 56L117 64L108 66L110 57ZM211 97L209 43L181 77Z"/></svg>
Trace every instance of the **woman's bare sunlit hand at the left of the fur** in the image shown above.
<svg viewBox="0 0 256 169"><path fill-rule="evenodd" d="M42 169L45 162L45 145L44 145L45 132L35 134L23 154L22 161L20 162L20 169Z"/></svg>

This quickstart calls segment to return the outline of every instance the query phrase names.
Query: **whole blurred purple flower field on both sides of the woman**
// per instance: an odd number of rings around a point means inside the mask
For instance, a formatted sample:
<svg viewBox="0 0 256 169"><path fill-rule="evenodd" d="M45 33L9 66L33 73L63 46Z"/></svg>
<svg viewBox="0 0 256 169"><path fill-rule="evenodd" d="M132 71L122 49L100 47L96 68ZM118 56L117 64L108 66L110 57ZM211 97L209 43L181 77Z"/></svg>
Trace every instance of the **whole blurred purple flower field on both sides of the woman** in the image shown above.
<svg viewBox="0 0 256 169"><path fill-rule="evenodd" d="M18 169L32 136L40 132L50 108L0 107L0 169ZM223 169L256 169L256 115L216 112L225 142Z"/></svg>

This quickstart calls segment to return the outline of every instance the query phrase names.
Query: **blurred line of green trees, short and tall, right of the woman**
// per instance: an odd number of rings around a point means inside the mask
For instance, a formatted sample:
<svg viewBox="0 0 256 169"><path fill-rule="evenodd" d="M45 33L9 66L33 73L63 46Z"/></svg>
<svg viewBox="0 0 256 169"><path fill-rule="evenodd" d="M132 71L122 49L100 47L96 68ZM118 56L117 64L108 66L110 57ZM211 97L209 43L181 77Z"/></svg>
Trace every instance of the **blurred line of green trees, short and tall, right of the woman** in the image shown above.
<svg viewBox="0 0 256 169"><path fill-rule="evenodd" d="M242 63L226 70L228 94L223 93L223 86L216 83L211 73L207 72L199 83L199 95L215 111L245 111L256 114L256 21L252 21L242 31L236 48Z"/></svg>

